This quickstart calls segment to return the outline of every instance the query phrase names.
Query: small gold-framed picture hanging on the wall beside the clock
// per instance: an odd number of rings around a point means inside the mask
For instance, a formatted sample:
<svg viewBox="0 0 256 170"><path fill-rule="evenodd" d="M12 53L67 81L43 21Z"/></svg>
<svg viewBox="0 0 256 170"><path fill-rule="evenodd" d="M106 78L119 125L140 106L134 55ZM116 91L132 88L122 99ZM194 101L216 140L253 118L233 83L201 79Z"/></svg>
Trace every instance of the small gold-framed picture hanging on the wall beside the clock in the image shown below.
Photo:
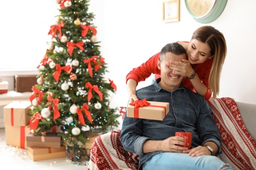
<svg viewBox="0 0 256 170"><path fill-rule="evenodd" d="M163 22L179 22L180 0L163 1Z"/></svg>

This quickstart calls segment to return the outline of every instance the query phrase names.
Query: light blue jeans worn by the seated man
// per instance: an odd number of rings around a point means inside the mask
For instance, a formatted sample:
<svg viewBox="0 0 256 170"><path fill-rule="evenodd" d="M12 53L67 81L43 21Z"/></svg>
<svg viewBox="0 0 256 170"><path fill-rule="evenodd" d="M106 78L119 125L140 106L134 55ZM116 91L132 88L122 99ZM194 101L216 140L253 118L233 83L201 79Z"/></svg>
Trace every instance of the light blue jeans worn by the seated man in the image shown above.
<svg viewBox="0 0 256 170"><path fill-rule="evenodd" d="M143 170L149 169L186 169L186 170L217 170L226 165L225 170L232 169L216 156L189 156L178 152L161 152L142 164Z"/></svg>

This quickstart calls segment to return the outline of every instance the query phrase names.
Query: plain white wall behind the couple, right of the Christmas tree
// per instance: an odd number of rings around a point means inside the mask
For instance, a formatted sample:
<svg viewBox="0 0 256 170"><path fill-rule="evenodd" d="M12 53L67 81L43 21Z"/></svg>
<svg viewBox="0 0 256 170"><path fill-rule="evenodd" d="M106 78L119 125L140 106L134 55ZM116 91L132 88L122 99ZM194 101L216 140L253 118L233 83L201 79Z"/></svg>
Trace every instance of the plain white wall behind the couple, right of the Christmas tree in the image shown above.
<svg viewBox="0 0 256 170"><path fill-rule="evenodd" d="M210 24L196 22L181 0L179 22L162 22L162 1L108 0L91 1L89 7L96 14L95 24L102 56L109 66L109 76L117 85L112 105L127 105L125 76L161 50L169 42L190 41L195 29L212 25L219 29L228 46L228 54L221 74L218 97L232 97L236 101L256 104L256 1L228 1L217 20ZM139 87L151 83L147 80Z"/></svg>

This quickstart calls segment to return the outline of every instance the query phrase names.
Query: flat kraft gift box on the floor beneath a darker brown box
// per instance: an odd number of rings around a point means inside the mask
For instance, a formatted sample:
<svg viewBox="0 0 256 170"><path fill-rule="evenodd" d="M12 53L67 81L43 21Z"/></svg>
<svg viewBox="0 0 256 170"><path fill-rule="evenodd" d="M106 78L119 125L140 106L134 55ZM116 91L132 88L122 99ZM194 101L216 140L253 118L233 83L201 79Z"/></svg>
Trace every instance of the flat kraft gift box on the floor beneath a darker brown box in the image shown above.
<svg viewBox="0 0 256 170"><path fill-rule="evenodd" d="M60 148L28 147L28 156L32 161L50 160L66 157L66 146Z"/></svg>

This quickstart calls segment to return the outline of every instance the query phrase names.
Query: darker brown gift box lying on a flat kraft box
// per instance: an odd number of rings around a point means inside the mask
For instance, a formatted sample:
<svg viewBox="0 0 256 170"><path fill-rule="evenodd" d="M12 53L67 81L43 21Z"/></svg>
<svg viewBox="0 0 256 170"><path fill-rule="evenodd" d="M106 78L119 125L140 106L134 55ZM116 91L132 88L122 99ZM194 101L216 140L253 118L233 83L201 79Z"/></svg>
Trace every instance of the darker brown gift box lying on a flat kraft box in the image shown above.
<svg viewBox="0 0 256 170"><path fill-rule="evenodd" d="M26 136L27 146L39 148L60 148L62 146L61 137L57 133L47 133L46 135L33 135L29 133Z"/></svg>

